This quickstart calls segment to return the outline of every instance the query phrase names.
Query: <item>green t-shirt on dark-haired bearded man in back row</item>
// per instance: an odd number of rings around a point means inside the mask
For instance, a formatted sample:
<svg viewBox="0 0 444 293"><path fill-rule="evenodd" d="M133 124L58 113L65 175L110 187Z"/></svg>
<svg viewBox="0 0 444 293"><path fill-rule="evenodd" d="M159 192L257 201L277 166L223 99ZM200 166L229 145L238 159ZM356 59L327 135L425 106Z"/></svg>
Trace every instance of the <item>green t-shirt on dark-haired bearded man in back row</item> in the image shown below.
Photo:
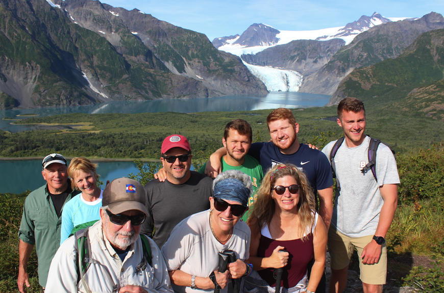
<svg viewBox="0 0 444 293"><path fill-rule="evenodd" d="M248 206L251 207L251 205L253 205L253 203L256 201L257 198L256 190L259 188L262 181L262 177L264 176L264 173L262 172L262 167L259 164L259 162L256 159L254 159L254 157L248 154L245 155L245 162L241 166L228 165L225 162L224 158L220 159L220 162L222 163L222 171L239 170L250 176L251 183L253 184L253 194L248 199ZM207 163L205 163L201 167L201 169L199 169L199 173L202 174L205 173L206 166ZM242 221L246 221L246 219L248 219L251 211L252 210L250 208L250 210L242 216Z"/></svg>

